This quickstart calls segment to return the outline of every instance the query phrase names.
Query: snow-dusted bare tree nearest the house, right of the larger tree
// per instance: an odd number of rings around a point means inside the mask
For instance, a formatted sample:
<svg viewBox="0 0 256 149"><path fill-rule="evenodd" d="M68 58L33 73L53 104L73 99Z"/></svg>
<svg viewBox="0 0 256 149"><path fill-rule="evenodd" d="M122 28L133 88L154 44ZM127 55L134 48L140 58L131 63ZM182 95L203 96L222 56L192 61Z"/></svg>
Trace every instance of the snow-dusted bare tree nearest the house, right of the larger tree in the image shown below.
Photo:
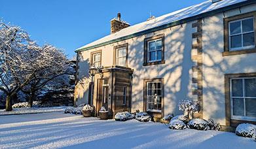
<svg viewBox="0 0 256 149"><path fill-rule="evenodd" d="M64 83L62 79L64 74L69 73L68 61L62 50L46 44L41 48L41 56L37 59L39 61L45 61L44 67L34 73L33 79L25 86L22 91L29 95L28 106L32 107L35 100L35 93L42 90L45 86L58 86L58 84Z"/></svg>

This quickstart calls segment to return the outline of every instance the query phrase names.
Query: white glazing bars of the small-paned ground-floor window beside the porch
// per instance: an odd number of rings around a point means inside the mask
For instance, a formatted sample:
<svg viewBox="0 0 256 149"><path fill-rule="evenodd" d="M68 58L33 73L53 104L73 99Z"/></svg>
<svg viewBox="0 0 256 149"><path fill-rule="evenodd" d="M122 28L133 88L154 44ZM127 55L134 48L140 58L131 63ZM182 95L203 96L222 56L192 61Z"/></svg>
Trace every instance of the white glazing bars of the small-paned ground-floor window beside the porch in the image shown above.
<svg viewBox="0 0 256 149"><path fill-rule="evenodd" d="M156 110L156 109L149 109L149 97L154 97L155 95L149 95L149 84L150 83L160 83L160 88L156 88L155 90L161 90L161 95L157 95L157 97L161 97L161 110ZM162 112L162 82L160 81L152 81L152 82L147 82L147 111L149 112ZM158 108L158 102L152 102L153 104L156 104L156 108Z"/></svg>

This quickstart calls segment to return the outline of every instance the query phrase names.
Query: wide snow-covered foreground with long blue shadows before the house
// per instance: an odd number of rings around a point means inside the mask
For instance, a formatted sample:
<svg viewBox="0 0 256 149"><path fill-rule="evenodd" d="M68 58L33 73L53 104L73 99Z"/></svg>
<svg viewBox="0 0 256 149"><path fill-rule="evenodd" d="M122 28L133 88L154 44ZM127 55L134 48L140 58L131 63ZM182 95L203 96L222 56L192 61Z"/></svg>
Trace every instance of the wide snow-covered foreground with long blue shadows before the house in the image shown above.
<svg viewBox="0 0 256 149"><path fill-rule="evenodd" d="M153 122L98 120L51 112L0 116L0 148L256 148L221 131L175 131Z"/></svg>

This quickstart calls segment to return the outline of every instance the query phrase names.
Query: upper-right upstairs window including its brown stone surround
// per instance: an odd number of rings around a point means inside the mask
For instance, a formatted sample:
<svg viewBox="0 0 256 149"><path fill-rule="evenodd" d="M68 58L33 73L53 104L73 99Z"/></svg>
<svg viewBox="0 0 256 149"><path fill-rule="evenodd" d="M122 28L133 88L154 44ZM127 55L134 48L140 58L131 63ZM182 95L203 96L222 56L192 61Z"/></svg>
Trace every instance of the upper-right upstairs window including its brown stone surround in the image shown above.
<svg viewBox="0 0 256 149"><path fill-rule="evenodd" d="M256 12L224 18L223 56L256 52L255 25Z"/></svg>

